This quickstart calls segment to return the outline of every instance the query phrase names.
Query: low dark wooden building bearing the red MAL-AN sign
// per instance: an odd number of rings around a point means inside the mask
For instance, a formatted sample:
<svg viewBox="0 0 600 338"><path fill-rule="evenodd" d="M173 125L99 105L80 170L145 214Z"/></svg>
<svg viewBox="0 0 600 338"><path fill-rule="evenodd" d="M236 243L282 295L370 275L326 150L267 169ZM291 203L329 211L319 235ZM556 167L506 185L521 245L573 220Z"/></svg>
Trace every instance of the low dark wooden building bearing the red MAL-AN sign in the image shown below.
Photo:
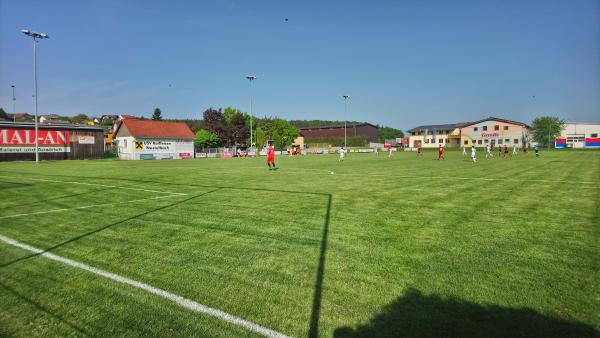
<svg viewBox="0 0 600 338"><path fill-rule="evenodd" d="M104 130L99 126L38 124L40 160L82 160L104 156ZM35 124L0 121L0 161L35 160Z"/></svg>

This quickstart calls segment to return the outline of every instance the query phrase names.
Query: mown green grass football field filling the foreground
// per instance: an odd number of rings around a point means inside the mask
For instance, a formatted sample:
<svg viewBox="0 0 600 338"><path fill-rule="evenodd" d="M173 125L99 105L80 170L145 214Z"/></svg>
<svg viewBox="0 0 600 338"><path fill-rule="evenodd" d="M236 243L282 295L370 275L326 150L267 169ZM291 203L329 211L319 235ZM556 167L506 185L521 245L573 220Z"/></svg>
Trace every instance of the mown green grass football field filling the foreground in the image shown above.
<svg viewBox="0 0 600 338"><path fill-rule="evenodd" d="M0 336L600 336L600 152L0 163Z"/></svg>

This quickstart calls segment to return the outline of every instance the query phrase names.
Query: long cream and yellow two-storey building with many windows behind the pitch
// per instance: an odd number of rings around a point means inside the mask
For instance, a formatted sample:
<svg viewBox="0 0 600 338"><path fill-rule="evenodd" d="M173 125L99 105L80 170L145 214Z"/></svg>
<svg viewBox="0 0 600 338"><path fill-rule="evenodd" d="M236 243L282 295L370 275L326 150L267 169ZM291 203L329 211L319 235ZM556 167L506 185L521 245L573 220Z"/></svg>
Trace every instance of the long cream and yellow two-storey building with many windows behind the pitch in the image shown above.
<svg viewBox="0 0 600 338"><path fill-rule="evenodd" d="M517 121L488 117L475 122L419 126L408 130L412 148L485 147L507 145L524 147L529 144L531 127Z"/></svg>

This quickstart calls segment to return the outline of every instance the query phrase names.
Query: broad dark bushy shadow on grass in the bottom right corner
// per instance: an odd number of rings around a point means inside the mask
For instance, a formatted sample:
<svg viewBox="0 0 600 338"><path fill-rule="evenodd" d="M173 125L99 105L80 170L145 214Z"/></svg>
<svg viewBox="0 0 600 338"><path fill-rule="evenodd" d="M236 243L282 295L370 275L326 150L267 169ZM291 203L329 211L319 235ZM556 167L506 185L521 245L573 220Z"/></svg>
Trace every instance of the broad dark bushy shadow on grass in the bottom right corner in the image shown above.
<svg viewBox="0 0 600 338"><path fill-rule="evenodd" d="M528 308L481 305L409 289L367 324L334 337L600 337L594 327Z"/></svg>

